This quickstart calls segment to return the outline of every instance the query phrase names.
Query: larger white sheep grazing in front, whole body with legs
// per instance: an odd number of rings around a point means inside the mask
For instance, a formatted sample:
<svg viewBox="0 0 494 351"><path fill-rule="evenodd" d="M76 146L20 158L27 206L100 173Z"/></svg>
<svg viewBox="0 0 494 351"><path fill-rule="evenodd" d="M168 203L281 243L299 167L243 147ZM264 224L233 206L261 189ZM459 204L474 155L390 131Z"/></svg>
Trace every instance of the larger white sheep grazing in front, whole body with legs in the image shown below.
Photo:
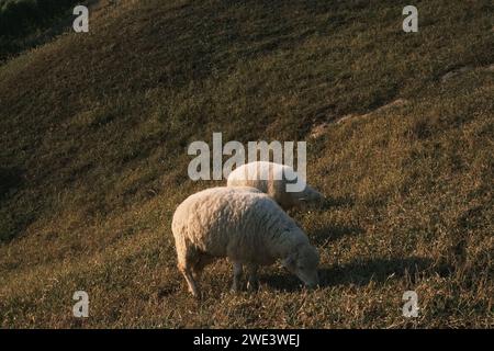
<svg viewBox="0 0 494 351"><path fill-rule="evenodd" d="M178 269L194 296L204 267L218 258L233 262L234 292L239 290L244 264L247 286L255 288L259 265L278 259L308 287L318 284L317 250L295 222L257 189L220 186L195 193L177 207L171 229Z"/></svg>

